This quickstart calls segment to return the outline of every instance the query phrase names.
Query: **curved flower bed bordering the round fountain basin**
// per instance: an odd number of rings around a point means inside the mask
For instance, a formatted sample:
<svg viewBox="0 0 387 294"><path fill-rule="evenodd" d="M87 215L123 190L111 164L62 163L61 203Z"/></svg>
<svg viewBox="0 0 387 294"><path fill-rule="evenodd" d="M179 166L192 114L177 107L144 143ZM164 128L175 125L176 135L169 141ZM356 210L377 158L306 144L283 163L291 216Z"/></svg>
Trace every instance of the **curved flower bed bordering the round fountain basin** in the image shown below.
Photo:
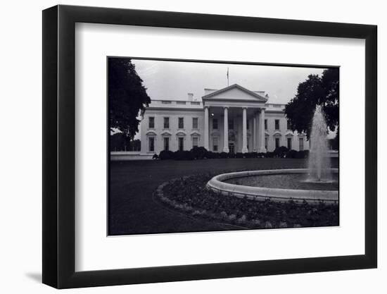
<svg viewBox="0 0 387 294"><path fill-rule="evenodd" d="M228 197L205 188L214 174L177 178L163 183L156 195L168 207L190 216L243 228L338 226L338 205L296 204Z"/></svg>

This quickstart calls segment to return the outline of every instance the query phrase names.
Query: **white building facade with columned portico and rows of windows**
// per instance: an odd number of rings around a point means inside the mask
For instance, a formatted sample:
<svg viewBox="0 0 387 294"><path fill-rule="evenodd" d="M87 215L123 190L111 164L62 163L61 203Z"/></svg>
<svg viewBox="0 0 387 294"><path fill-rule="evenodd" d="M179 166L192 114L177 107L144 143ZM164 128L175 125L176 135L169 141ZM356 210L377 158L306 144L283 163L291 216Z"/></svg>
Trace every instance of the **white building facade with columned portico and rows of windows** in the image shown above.
<svg viewBox="0 0 387 294"><path fill-rule="evenodd" d="M201 99L153 100L141 121L141 155L205 147L212 152L307 150L303 133L292 132L284 104L270 104L263 91L240 85L205 89ZM225 135L226 134L226 135Z"/></svg>

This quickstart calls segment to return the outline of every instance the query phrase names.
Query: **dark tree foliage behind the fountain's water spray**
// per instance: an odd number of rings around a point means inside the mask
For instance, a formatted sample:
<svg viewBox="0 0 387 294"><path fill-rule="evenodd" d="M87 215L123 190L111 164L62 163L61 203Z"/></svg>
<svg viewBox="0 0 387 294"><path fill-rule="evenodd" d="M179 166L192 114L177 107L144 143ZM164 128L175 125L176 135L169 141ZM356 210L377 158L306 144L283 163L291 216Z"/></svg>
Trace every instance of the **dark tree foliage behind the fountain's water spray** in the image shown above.
<svg viewBox="0 0 387 294"><path fill-rule="evenodd" d="M309 139L317 105L323 106L326 125L334 131L338 127L338 68L326 69L321 77L309 75L305 82L298 84L296 96L285 106L291 129L305 132Z"/></svg>

